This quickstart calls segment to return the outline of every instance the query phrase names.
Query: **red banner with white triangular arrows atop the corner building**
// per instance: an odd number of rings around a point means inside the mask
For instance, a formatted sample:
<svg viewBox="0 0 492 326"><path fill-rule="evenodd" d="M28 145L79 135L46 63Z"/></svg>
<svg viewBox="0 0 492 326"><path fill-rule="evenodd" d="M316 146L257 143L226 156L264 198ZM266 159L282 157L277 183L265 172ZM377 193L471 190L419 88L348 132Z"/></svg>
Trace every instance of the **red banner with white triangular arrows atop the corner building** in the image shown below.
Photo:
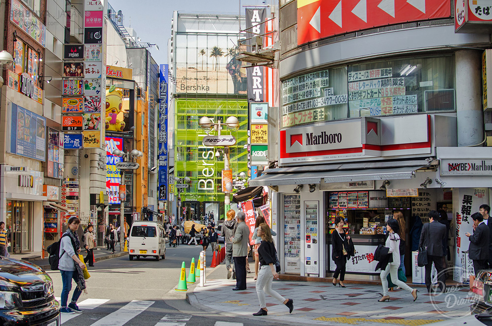
<svg viewBox="0 0 492 326"><path fill-rule="evenodd" d="M297 43L374 27L451 17L450 0L298 0Z"/></svg>

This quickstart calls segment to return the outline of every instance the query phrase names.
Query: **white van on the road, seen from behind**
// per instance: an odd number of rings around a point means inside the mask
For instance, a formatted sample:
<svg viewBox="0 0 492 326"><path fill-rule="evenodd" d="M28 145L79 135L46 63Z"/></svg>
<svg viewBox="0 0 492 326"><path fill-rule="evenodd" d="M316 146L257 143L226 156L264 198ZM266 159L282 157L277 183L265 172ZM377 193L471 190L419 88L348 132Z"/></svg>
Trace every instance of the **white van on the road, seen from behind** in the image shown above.
<svg viewBox="0 0 492 326"><path fill-rule="evenodd" d="M166 258L166 233L159 222L135 221L128 237L128 254L133 257L154 257L156 261Z"/></svg>

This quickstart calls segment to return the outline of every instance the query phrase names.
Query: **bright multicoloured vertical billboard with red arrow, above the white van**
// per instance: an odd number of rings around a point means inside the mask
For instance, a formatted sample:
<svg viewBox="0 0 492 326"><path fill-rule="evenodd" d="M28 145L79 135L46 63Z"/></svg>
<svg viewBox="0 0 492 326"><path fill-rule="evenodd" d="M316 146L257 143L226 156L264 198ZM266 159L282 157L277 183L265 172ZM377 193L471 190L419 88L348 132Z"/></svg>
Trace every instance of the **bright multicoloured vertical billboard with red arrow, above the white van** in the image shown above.
<svg viewBox="0 0 492 326"><path fill-rule="evenodd" d="M123 151L123 138L106 137L106 194L108 204L120 204L119 188L121 183L120 169L116 163L121 162L121 157L113 155L115 149Z"/></svg>

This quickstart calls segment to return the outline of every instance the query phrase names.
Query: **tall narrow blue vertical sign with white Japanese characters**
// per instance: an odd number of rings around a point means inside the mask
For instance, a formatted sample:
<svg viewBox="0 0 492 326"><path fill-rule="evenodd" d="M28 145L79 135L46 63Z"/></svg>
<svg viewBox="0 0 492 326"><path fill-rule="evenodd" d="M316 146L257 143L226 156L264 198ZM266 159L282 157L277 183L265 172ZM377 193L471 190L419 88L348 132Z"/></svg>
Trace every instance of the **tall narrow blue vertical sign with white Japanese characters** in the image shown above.
<svg viewBox="0 0 492 326"><path fill-rule="evenodd" d="M167 200L167 85L169 65L159 66L159 200Z"/></svg>

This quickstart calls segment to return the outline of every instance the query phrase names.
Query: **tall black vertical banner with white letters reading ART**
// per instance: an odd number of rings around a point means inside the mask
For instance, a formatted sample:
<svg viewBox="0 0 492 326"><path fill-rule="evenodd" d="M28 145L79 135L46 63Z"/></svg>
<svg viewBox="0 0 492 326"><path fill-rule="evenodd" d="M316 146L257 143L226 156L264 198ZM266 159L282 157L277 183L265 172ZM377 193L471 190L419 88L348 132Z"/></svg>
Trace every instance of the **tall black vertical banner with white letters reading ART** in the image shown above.
<svg viewBox="0 0 492 326"><path fill-rule="evenodd" d="M254 34L261 35L265 33L265 25L260 24L267 18L265 8L246 8L246 39L247 50L251 51L251 38ZM264 67L246 68L247 74L247 99L249 102L264 101Z"/></svg>

